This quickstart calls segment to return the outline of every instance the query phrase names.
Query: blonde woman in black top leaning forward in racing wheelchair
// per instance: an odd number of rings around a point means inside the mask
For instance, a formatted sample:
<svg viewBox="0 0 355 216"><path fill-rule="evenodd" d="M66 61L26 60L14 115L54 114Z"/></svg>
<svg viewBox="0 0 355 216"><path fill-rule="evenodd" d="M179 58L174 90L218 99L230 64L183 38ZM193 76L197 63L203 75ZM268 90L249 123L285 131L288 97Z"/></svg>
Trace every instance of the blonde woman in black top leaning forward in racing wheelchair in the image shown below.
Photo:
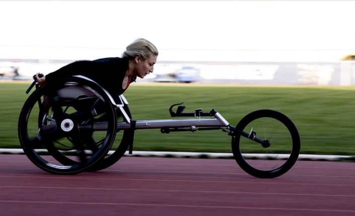
<svg viewBox="0 0 355 216"><path fill-rule="evenodd" d="M122 58L76 61L41 78L38 73L36 81L39 85L45 85L61 78L82 75L96 81L112 96L118 96L123 94L137 77L143 79L147 74L153 73L157 57L156 47L139 38L127 46Z"/></svg>

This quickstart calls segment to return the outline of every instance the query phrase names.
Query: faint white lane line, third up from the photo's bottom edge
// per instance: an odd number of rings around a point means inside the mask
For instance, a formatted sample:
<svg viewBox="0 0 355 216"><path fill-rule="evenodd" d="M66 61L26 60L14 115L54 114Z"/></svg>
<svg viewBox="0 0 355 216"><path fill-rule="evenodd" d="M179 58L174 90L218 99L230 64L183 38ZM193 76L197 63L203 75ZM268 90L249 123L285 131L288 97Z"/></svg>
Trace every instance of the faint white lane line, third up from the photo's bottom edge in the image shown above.
<svg viewBox="0 0 355 216"><path fill-rule="evenodd" d="M78 179L82 180L82 177L50 177L50 176L16 176L16 175L0 175L2 177L9 177L9 178L19 178L19 180L26 179L26 181L30 178L53 178L53 179ZM319 185L319 186L355 186L355 184L321 184L321 183L297 183L297 182L264 182L264 181L209 181L209 180L176 180L176 179L148 179L148 178L93 178L93 177L84 177L85 180L127 180L127 181L167 181L167 182L207 182L207 183L242 183L242 184L286 184L286 185ZM260 179L262 180L262 179Z"/></svg>

